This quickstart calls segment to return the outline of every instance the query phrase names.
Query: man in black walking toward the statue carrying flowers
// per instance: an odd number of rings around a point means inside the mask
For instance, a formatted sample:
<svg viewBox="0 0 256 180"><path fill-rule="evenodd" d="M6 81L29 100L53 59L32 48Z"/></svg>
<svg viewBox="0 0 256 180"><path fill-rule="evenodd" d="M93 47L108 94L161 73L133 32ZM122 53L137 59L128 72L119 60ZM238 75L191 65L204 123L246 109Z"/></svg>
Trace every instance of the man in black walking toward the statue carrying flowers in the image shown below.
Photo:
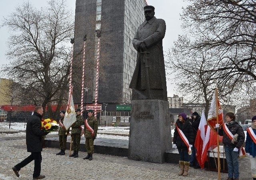
<svg viewBox="0 0 256 180"><path fill-rule="evenodd" d="M24 159L19 164L16 164L12 170L17 177L20 176L19 171L21 168L29 164L34 160L34 173L33 179L42 179L45 178L44 175L40 175L41 172L41 162L42 162L42 136L47 135L48 133L40 129L41 119L43 114L42 106L37 106L34 109L33 115L30 117L26 127L26 145L28 152L31 154Z"/></svg>

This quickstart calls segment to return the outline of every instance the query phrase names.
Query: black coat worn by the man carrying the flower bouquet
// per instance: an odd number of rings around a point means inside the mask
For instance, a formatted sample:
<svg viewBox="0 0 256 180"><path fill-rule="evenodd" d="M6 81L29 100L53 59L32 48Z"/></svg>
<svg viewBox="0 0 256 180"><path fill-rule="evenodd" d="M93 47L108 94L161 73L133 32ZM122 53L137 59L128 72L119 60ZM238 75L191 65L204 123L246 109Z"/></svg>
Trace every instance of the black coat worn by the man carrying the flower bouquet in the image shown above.
<svg viewBox="0 0 256 180"><path fill-rule="evenodd" d="M42 136L47 135L41 127L42 116L36 112L29 118L26 127L26 144L28 152L41 152Z"/></svg>

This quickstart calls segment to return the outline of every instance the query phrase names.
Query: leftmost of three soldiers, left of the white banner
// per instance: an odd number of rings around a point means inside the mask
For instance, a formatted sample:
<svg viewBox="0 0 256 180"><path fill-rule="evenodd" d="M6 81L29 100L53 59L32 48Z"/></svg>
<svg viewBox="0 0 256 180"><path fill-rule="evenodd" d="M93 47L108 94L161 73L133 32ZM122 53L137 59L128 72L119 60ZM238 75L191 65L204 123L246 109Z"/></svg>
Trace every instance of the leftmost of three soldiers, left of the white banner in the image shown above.
<svg viewBox="0 0 256 180"><path fill-rule="evenodd" d="M59 124L63 125L65 113L66 113L65 111L60 111L60 123ZM60 141L60 152L58 152L56 155L65 155L67 136L68 136L66 134L66 129L60 127L58 135L59 135L59 141Z"/></svg>

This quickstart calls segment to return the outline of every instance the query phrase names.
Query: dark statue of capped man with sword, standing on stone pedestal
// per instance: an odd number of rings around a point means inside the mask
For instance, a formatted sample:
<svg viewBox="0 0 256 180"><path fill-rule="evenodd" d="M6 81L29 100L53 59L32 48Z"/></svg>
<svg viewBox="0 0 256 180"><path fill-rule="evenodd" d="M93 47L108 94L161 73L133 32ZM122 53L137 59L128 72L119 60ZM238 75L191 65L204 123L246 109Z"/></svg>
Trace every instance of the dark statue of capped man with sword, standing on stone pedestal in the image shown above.
<svg viewBox="0 0 256 180"><path fill-rule="evenodd" d="M166 24L154 15L153 6L144 7L146 20L139 26L133 47L138 51L137 63L130 83L132 100L167 101L166 75L162 40Z"/></svg>

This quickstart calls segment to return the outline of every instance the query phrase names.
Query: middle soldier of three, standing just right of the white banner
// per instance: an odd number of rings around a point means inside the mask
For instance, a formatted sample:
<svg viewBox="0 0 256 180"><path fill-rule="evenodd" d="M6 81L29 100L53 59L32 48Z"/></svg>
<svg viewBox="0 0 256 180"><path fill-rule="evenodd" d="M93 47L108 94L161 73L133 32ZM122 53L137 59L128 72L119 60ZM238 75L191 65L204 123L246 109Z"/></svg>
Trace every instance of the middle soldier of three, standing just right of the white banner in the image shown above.
<svg viewBox="0 0 256 180"><path fill-rule="evenodd" d="M82 128L81 125L84 124L83 117L81 115L81 109L76 109L76 122L72 124L71 129L71 136L73 139L73 154L70 155L70 157L77 158L78 157L78 151L80 149L80 140L81 140L81 133Z"/></svg>

